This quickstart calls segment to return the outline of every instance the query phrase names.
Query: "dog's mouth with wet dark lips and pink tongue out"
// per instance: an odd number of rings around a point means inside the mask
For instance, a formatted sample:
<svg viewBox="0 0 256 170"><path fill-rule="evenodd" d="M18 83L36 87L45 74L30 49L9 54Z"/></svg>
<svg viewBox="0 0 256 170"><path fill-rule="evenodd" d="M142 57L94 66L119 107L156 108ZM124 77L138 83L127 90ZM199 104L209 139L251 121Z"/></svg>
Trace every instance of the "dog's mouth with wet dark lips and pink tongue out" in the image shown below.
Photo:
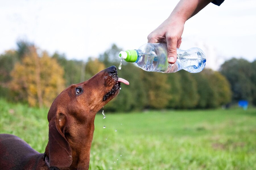
<svg viewBox="0 0 256 170"><path fill-rule="evenodd" d="M112 87L112 89L107 94L104 95L103 101L107 100L110 97L114 98L119 93L119 91L121 89L121 82L126 84L126 85L129 85L129 82L127 80L125 80L123 78L119 78L117 76L117 72L116 73L111 73L105 79L106 79L106 82L108 84L113 84L113 87Z"/></svg>

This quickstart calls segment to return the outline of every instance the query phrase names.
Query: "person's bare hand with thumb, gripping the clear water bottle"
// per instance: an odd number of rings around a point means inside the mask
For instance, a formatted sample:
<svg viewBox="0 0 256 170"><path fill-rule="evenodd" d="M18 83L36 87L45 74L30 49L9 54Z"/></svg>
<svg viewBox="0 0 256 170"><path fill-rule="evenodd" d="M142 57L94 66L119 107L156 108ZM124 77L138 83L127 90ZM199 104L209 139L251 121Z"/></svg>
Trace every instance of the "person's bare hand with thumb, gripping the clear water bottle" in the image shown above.
<svg viewBox="0 0 256 170"><path fill-rule="evenodd" d="M177 60L177 48L181 44L185 20L170 16L148 35L148 43L166 42L168 62Z"/></svg>

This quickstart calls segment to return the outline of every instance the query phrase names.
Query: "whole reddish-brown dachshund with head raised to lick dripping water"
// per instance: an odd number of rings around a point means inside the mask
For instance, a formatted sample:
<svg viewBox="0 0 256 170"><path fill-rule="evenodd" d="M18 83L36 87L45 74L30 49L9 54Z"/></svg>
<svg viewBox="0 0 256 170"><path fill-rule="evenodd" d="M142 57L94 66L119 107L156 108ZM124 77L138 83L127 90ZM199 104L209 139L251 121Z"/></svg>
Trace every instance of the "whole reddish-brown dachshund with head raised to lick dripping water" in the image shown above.
<svg viewBox="0 0 256 170"><path fill-rule="evenodd" d="M0 134L0 169L89 169L95 115L119 93L120 82L129 84L112 66L63 90L48 112L45 154L14 135Z"/></svg>

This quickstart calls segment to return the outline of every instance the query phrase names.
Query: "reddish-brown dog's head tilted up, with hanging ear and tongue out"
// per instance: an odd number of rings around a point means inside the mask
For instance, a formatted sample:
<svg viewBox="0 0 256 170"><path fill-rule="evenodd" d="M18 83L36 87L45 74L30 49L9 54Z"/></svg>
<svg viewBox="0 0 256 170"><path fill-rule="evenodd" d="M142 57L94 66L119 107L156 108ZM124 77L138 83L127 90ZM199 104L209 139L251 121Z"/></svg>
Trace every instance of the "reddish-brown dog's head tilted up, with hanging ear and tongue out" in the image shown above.
<svg viewBox="0 0 256 170"><path fill-rule="evenodd" d="M117 69L112 66L58 95L48 112L50 166L69 167L72 157L80 154L71 148L79 144L88 143L84 147L89 147L90 152L95 114L119 93L120 82L129 84L118 78ZM87 143L82 143L83 139Z"/></svg>

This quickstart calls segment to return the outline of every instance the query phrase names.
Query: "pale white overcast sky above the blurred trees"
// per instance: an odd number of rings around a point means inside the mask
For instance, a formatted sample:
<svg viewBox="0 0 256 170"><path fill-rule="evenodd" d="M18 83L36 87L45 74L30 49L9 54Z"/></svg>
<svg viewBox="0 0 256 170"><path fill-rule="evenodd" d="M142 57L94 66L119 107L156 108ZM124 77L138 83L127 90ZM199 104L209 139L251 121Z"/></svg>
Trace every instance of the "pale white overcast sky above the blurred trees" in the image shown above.
<svg viewBox="0 0 256 170"><path fill-rule="evenodd" d="M177 0L0 0L0 54L17 40L68 59L97 57L115 43L136 49L172 12ZM72 2L72 3L71 3ZM256 59L256 1L209 4L189 19L180 48L203 49L208 67L232 57Z"/></svg>

